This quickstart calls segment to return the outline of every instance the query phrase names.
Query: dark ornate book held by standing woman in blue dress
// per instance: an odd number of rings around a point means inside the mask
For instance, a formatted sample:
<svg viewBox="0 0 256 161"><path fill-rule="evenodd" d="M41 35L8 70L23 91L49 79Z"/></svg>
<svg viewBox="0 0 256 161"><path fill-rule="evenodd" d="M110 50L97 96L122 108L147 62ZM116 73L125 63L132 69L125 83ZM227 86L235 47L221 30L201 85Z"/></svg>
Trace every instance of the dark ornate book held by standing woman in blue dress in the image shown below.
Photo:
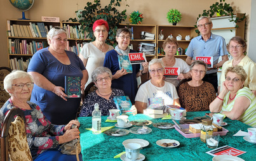
<svg viewBox="0 0 256 161"><path fill-rule="evenodd" d="M67 98L81 97L81 77L65 76L65 94Z"/></svg>

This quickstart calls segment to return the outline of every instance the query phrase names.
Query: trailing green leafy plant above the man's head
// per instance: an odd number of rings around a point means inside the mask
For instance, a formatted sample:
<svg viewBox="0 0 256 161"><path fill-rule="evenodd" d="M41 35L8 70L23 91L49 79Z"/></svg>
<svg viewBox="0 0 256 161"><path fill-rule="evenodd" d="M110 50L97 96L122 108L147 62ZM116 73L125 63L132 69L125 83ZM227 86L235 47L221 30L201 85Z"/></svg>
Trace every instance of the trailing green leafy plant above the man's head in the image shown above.
<svg viewBox="0 0 256 161"><path fill-rule="evenodd" d="M210 6L209 10L203 10L203 13L198 15L198 18L196 19L196 21L198 21L198 19L201 16L212 17L215 15L215 13L218 13L218 15L220 15L220 16L231 16L231 19L229 21L234 22L234 23L241 22L246 18L245 16L242 16L242 17L236 16L236 18L234 18L234 13L233 13L234 10L233 10L232 6L230 4L224 3L226 0L219 0L219 1L220 1L220 3L219 2L213 3ZM194 25L194 27L197 28L197 25ZM236 25L236 28L238 28L238 27L239 26ZM196 29L196 33L198 35L200 34L198 29Z"/></svg>

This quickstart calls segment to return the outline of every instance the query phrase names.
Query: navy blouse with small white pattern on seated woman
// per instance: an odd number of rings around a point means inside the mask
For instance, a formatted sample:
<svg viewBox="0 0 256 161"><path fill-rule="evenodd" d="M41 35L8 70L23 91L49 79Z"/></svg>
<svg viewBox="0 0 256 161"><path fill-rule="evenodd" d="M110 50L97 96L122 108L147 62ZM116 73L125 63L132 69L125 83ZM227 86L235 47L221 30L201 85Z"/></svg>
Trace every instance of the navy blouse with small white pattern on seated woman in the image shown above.
<svg viewBox="0 0 256 161"><path fill-rule="evenodd" d="M94 104L98 103L98 108L102 112L102 116L109 115L109 109L116 109L116 104L114 103L114 96L125 96L124 91L120 89L112 88L112 94L109 97L109 100L98 96L96 91L89 93L83 102L83 106L80 112L79 117L91 116L91 113L94 110Z"/></svg>

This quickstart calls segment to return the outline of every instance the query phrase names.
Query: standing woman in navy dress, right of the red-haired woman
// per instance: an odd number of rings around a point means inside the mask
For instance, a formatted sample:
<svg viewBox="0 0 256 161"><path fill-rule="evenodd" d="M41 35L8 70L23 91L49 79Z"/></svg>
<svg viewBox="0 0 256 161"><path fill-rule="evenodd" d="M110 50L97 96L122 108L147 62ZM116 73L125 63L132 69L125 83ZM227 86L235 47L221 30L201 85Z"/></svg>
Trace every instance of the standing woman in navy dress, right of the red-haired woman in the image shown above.
<svg viewBox="0 0 256 161"><path fill-rule="evenodd" d="M128 55L128 53L137 53L128 48L130 44L131 33L129 29L123 28L116 32L116 41L118 45L115 49L107 52L104 60L104 67L107 67L112 72L112 87L122 89L126 96L129 96L131 103L134 104L135 96L138 90L137 79L140 75L146 74L147 62L142 63L143 70L140 70L140 65L132 65L132 73L127 73L124 68L119 67L118 55Z"/></svg>

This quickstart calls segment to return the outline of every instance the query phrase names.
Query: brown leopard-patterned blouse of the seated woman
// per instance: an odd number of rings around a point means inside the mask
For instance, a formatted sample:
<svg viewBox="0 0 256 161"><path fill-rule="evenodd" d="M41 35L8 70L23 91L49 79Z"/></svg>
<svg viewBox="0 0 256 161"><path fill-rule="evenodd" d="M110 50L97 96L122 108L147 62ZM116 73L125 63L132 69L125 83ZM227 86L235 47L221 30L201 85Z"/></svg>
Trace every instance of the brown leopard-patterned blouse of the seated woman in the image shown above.
<svg viewBox="0 0 256 161"><path fill-rule="evenodd" d="M209 110L210 103L216 98L215 89L209 82L203 82L201 86L191 87L187 82L181 84L178 89L180 105L187 112Z"/></svg>

